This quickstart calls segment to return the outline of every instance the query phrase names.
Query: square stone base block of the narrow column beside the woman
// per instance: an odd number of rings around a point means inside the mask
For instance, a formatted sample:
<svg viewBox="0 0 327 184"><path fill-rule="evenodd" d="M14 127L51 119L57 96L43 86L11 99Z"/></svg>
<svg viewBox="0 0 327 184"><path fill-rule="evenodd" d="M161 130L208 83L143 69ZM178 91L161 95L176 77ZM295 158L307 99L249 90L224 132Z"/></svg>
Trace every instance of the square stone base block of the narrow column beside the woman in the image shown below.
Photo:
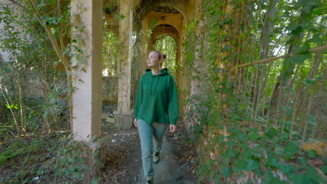
<svg viewBox="0 0 327 184"><path fill-rule="evenodd" d="M134 109L128 112L113 112L115 115L115 128L131 128L134 121Z"/></svg>

